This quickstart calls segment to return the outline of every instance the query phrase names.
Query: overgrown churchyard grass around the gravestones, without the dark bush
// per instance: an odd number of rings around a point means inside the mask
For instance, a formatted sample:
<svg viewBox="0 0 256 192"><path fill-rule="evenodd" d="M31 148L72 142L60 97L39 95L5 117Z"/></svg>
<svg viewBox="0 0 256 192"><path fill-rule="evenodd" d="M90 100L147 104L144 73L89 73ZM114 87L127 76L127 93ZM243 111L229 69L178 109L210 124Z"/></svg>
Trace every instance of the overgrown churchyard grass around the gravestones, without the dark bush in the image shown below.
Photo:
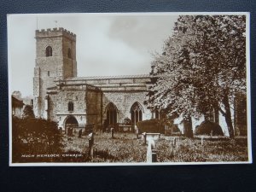
<svg viewBox="0 0 256 192"><path fill-rule="evenodd" d="M156 142L158 162L226 162L247 161L247 137L186 137L161 135ZM147 145L133 133L96 133L94 158L89 155L87 136L63 136L64 153L79 153L83 157L68 162L146 162ZM65 161L65 159L64 159ZM66 159L67 161L67 159Z"/></svg>

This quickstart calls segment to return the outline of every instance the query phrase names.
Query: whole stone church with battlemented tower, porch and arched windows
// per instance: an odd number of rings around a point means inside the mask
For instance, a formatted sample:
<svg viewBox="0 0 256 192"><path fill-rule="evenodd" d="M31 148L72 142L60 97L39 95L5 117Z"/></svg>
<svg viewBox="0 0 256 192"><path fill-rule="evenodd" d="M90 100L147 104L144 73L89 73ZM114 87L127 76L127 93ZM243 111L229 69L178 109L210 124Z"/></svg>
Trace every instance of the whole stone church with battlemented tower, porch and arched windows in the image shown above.
<svg viewBox="0 0 256 192"><path fill-rule="evenodd" d="M77 77L76 35L66 29L36 31L36 65L33 77L33 110L38 118L95 130L103 126L151 119L143 104L149 74ZM90 67L90 66L88 66Z"/></svg>

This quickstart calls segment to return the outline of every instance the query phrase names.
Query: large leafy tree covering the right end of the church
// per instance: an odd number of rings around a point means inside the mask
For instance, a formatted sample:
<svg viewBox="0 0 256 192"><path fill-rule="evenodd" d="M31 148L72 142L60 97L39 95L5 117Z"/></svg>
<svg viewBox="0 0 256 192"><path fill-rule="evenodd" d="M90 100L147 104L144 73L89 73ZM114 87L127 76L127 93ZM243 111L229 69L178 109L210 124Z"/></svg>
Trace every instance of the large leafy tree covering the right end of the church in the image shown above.
<svg viewBox="0 0 256 192"><path fill-rule="evenodd" d="M148 107L189 119L214 108L234 137L230 104L246 91L246 17L182 15L162 54L155 54Z"/></svg>

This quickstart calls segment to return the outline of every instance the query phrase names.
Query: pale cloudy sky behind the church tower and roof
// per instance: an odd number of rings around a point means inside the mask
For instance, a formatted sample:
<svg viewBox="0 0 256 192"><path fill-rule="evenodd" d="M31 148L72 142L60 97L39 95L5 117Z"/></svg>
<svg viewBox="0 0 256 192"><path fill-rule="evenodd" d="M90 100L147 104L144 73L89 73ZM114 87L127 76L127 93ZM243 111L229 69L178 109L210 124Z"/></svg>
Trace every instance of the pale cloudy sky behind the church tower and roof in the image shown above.
<svg viewBox="0 0 256 192"><path fill-rule="evenodd" d="M172 35L171 14L8 15L9 90L32 96L36 29L77 35L78 77L147 74L153 54Z"/></svg>

